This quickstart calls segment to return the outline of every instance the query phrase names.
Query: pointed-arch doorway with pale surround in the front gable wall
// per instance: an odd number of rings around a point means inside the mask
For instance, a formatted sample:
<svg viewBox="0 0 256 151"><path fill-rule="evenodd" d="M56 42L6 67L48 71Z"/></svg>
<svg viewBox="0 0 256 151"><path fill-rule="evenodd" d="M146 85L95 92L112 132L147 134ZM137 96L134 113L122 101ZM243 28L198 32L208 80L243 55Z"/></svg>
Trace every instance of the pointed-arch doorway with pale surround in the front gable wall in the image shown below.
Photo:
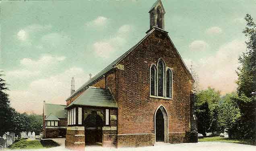
<svg viewBox="0 0 256 151"><path fill-rule="evenodd" d="M163 106L155 112L155 141L168 142L168 115Z"/></svg>

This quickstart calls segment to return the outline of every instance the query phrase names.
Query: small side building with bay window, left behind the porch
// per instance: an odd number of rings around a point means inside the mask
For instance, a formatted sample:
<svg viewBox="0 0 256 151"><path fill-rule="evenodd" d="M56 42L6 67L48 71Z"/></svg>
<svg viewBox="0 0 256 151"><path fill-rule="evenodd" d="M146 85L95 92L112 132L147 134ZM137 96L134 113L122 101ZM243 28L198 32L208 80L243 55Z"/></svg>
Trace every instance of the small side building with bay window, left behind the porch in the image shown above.
<svg viewBox="0 0 256 151"><path fill-rule="evenodd" d="M66 137L66 105L43 104L43 138Z"/></svg>

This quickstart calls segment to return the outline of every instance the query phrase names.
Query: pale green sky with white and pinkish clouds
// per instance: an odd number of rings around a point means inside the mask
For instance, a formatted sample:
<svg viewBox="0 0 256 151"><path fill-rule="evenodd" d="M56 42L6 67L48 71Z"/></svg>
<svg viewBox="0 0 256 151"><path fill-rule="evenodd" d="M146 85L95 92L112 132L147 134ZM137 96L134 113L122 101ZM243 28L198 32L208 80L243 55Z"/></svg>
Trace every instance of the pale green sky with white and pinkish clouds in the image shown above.
<svg viewBox="0 0 256 151"><path fill-rule="evenodd" d="M43 100L65 104L78 89L135 45L149 29L156 0L0 1L0 70L11 106L42 114ZM238 57L246 50L244 16L255 0L162 0L165 31L200 89L236 90Z"/></svg>

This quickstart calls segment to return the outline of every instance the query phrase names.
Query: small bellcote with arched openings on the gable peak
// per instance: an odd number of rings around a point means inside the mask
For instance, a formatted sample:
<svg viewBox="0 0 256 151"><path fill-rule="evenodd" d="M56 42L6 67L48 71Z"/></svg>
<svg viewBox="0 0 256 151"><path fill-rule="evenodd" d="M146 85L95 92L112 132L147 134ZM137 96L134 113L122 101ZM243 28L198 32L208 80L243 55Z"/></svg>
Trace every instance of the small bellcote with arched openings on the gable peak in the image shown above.
<svg viewBox="0 0 256 151"><path fill-rule="evenodd" d="M150 30L155 26L160 29L165 29L165 9L163 8L163 4L161 0L157 0L149 10L150 17Z"/></svg>

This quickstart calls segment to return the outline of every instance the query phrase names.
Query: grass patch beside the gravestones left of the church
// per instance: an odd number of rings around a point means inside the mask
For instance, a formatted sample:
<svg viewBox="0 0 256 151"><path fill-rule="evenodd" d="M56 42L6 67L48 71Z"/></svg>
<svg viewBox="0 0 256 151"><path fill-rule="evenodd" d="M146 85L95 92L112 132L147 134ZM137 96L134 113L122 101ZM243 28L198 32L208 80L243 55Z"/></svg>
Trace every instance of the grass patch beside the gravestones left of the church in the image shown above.
<svg viewBox="0 0 256 151"><path fill-rule="evenodd" d="M29 139L19 139L15 141L8 148L10 149L42 149L60 146L58 143L47 140L29 140Z"/></svg>

